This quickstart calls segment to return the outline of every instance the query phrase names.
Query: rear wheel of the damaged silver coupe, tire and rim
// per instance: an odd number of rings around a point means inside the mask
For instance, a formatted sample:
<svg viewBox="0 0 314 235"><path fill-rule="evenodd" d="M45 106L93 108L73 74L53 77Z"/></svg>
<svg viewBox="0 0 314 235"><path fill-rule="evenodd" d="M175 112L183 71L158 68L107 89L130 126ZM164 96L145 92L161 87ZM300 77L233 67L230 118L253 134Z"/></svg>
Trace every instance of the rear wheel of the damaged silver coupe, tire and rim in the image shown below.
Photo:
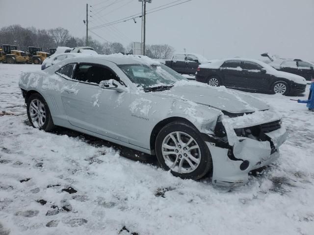
<svg viewBox="0 0 314 235"><path fill-rule="evenodd" d="M33 127L47 132L54 128L49 107L43 96L38 93L31 94L26 100L26 107L28 120Z"/></svg>

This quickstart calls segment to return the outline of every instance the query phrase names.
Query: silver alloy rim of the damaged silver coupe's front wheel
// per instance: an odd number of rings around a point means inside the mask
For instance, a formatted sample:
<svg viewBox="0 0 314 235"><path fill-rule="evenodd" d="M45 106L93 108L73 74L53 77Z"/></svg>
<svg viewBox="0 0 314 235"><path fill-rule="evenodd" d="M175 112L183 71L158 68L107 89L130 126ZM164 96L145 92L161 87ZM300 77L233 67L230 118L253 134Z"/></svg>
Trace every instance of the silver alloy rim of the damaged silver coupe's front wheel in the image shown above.
<svg viewBox="0 0 314 235"><path fill-rule="evenodd" d="M193 172L201 162L201 149L188 134L176 131L162 141L162 156L165 164L174 172Z"/></svg>

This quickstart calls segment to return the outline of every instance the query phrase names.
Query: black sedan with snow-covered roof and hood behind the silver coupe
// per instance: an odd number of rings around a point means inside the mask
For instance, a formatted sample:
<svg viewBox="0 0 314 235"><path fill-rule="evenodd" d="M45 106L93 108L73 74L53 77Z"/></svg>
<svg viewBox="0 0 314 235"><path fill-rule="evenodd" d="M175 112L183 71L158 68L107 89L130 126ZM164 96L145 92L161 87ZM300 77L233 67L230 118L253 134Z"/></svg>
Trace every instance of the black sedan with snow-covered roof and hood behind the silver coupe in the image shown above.
<svg viewBox="0 0 314 235"><path fill-rule="evenodd" d="M304 77L277 71L259 60L230 58L200 65L196 81L210 86L226 86L233 89L271 92L279 94L304 93Z"/></svg>

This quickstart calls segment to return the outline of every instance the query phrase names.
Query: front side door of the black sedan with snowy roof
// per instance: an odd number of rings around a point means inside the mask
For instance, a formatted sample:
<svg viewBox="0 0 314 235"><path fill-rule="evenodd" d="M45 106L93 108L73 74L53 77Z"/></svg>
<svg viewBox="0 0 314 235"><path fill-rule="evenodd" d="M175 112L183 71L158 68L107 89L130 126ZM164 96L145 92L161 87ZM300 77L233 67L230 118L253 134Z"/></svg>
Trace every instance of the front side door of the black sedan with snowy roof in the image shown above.
<svg viewBox="0 0 314 235"><path fill-rule="evenodd" d="M251 61L243 61L242 72L245 77L243 88L265 91L269 89L270 75L263 67Z"/></svg>

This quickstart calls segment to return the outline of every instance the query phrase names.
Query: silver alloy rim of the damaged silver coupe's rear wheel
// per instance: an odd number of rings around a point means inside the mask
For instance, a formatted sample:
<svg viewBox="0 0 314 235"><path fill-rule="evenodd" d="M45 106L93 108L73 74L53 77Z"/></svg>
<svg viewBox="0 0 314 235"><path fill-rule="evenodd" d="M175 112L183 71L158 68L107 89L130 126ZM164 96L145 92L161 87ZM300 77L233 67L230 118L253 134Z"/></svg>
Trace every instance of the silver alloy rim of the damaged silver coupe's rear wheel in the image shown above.
<svg viewBox="0 0 314 235"><path fill-rule="evenodd" d="M40 100L33 99L29 105L29 116L36 128L42 127L46 121L45 105Z"/></svg>

